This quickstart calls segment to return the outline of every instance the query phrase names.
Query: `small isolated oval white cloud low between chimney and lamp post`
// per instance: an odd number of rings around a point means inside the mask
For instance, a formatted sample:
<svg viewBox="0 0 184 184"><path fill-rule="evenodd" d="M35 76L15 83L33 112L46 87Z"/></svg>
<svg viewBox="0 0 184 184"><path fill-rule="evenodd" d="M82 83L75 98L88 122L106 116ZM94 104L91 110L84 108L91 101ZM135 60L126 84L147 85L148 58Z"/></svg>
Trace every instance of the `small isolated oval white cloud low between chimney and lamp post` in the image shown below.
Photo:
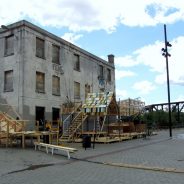
<svg viewBox="0 0 184 184"><path fill-rule="evenodd" d="M141 81L136 82L132 88L137 90L140 94L148 94L156 87L149 81Z"/></svg>

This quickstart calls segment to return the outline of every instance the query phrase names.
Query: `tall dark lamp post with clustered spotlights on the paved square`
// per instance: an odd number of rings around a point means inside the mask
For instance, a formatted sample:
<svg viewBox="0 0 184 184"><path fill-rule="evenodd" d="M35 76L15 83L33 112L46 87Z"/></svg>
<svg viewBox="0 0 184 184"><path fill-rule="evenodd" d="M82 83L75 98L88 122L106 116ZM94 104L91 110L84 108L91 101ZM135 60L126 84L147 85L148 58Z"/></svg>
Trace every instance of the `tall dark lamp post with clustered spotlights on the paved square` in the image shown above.
<svg viewBox="0 0 184 184"><path fill-rule="evenodd" d="M167 41L166 25L164 24L164 36L165 36L165 48L162 48L162 55L166 59L166 71L167 71L167 94L168 94L168 109L169 109L169 135L172 137L172 122L171 122L171 102L170 102L170 85L169 85L169 65L168 57L171 55L168 53L167 47L172 47L172 45Z"/></svg>

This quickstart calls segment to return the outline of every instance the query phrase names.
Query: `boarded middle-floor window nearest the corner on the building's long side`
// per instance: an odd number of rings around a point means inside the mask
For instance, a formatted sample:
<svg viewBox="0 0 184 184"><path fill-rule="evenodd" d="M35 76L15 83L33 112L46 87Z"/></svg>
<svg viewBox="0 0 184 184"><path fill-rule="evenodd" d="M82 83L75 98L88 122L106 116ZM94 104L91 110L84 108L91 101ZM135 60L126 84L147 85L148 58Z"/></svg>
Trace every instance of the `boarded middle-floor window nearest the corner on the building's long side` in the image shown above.
<svg viewBox="0 0 184 184"><path fill-rule="evenodd" d="M36 72L36 92L45 93L45 74Z"/></svg>

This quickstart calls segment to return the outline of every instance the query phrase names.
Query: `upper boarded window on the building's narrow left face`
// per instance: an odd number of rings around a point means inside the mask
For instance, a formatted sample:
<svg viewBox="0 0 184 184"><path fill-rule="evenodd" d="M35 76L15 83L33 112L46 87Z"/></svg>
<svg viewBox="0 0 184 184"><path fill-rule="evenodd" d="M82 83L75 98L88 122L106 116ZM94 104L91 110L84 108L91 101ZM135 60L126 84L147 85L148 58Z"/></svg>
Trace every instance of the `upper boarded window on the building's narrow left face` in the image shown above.
<svg viewBox="0 0 184 184"><path fill-rule="evenodd" d="M5 38L5 56L14 54L14 35Z"/></svg>

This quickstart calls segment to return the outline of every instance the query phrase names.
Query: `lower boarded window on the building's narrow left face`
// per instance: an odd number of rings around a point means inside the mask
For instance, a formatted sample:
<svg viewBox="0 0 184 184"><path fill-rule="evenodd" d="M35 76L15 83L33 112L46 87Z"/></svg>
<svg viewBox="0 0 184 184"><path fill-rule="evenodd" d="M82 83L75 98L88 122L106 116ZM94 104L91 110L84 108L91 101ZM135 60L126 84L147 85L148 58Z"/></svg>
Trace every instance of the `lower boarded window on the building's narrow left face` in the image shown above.
<svg viewBox="0 0 184 184"><path fill-rule="evenodd" d="M4 72L4 91L13 91L13 70Z"/></svg>

